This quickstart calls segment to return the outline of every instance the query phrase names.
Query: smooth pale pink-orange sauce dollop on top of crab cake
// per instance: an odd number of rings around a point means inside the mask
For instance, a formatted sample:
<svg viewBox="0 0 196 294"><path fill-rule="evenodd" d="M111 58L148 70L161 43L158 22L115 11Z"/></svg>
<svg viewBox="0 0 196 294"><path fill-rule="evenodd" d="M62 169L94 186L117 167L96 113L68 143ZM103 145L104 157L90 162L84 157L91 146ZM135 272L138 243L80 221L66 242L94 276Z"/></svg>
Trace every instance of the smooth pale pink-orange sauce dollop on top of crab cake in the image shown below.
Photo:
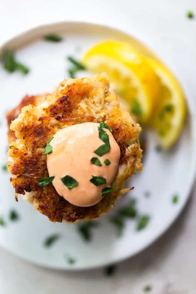
<svg viewBox="0 0 196 294"><path fill-rule="evenodd" d="M112 133L104 128L110 140L110 151L98 156L94 151L104 144L99 138L98 123L80 123L58 131L50 145L52 153L47 155L49 176L54 176L53 186L57 193L73 205L92 206L103 197L102 189L109 187L118 170L120 148ZM91 158L99 158L102 166L91 163ZM110 160L106 166L105 159ZM64 176L71 176L78 185L69 190L61 181ZM91 183L92 176L101 176L106 184L95 186Z"/></svg>

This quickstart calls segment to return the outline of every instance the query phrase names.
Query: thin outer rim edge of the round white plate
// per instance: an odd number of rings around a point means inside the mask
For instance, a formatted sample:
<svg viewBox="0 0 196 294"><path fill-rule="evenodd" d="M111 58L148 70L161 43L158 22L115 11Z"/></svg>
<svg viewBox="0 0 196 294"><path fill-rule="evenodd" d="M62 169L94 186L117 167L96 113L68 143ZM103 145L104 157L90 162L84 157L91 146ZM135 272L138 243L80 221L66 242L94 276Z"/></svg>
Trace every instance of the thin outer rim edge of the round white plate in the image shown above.
<svg viewBox="0 0 196 294"><path fill-rule="evenodd" d="M6 40L5 42L3 42L0 45L0 54L2 52L2 50L8 46L9 44L17 41L18 39L20 39L21 37L25 37L27 34L31 35L33 32L39 31L39 30L44 30L48 27L56 27L56 26L95 26L97 28L102 28L102 29L109 29L113 32L116 32L118 34L124 35L124 36L128 36L128 37L133 37L136 41L141 42L144 46L147 47L147 49L149 49L151 51L151 48L149 46L147 46L145 44L145 42L141 41L139 38L135 37L134 35L131 35L128 31L125 30L121 30L118 29L115 26L110 26L110 25L104 25L104 24L99 24L99 23L95 23L95 22L91 22L91 21L54 21L54 22L48 22L46 24L42 24L42 25L38 25L35 26L31 29L27 29L24 30L23 32L17 34L16 36ZM34 38L32 38L33 40ZM19 42L20 43L20 42ZM24 45L22 45L24 46ZM157 52L154 53L154 51L152 50L152 53L154 55L157 55ZM159 58L159 56L158 56ZM164 58L161 58L161 60L163 61L163 63L168 66L168 62L164 61ZM170 68L170 66L168 66ZM193 95L191 93L191 91L189 90L187 83L185 81L184 78L182 78L182 75L180 73L179 70L177 70L176 66L173 67L172 66L172 72L175 74L175 76L177 77L177 79L179 79L180 84L182 86L183 92L185 94L186 97L186 103L187 103L187 109L189 111L189 117L190 117L190 131L191 131L191 136L192 136L192 149L196 146L196 103L193 99ZM27 258L25 256L23 256L20 253L16 253L14 250L12 250L11 248L7 248L6 246L0 244L4 249L6 249L7 251L11 252L12 254L14 254L15 256L18 256L19 258L26 260L27 262L31 262L33 264L39 265L41 267L44 268L50 268L50 269L56 269L56 270L70 270L70 271L75 271L75 270L89 270L89 269L96 269L96 268L100 268L100 267L104 267L113 263L118 263L121 262L125 259L131 258L134 255L140 253L141 251L145 250L146 248L148 248L152 243L154 243L156 240L158 240L158 238L160 238L169 228L170 226L175 222L175 220L177 220L177 218L179 217L180 213L183 211L183 208L185 206L185 204L187 203L187 200L190 197L190 193L193 187L193 184L195 182L195 174L196 174L196 154L195 157L192 158L192 165L191 165L191 170L190 170L190 180L189 183L187 184L187 192L186 192L186 197L184 197L184 200L182 202L179 203L175 214L169 219L169 221L167 221L164 225L164 228L157 231L157 233L153 236L153 238L151 238L150 240L148 240L147 242L145 242L145 245L140 246L137 248L137 250L133 251L132 253L129 254L125 254L123 257L113 257L113 260L111 262L105 262L105 263L96 263L95 265L88 265L88 266L77 266L76 265L66 265L65 266L56 266L56 265L48 265L46 263L43 262L38 262L33 260L32 258Z"/></svg>

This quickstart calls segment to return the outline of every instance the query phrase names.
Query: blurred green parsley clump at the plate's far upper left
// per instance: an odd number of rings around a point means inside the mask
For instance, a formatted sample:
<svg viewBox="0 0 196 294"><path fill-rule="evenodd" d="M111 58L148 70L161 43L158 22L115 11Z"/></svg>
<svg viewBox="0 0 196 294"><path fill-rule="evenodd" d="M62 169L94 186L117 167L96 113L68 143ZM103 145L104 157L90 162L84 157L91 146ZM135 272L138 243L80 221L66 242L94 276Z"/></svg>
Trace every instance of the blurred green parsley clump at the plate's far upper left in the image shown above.
<svg viewBox="0 0 196 294"><path fill-rule="evenodd" d="M4 69L10 73L13 73L14 71L21 71L23 74L28 74L29 72L27 66L16 61L14 52L9 49L6 49L3 53L3 63Z"/></svg>

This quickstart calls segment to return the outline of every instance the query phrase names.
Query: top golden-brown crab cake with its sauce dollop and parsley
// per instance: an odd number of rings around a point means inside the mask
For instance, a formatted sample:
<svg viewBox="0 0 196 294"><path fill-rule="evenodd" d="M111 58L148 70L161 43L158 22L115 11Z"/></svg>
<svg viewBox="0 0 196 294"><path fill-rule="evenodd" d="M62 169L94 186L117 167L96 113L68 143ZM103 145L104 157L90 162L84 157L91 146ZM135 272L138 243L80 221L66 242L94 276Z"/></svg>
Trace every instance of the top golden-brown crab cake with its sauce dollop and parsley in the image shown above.
<svg viewBox="0 0 196 294"><path fill-rule="evenodd" d="M131 189L123 187L125 180L142 170L140 126L120 110L105 74L68 79L52 94L36 97L10 125L17 138L8 151L16 201L21 194L52 222L93 220L108 212Z"/></svg>

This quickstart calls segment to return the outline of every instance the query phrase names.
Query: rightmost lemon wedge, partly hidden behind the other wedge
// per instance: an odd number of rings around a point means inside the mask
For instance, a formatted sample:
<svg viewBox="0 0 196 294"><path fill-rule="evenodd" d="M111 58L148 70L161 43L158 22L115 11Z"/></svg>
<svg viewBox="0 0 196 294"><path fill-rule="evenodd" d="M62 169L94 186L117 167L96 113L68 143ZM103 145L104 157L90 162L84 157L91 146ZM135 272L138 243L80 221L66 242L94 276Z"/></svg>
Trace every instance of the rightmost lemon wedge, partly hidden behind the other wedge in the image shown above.
<svg viewBox="0 0 196 294"><path fill-rule="evenodd" d="M177 140L182 129L186 113L185 98L170 70L155 59L149 58L148 61L161 82L160 98L152 115L152 126L158 131L162 146L167 149Z"/></svg>

